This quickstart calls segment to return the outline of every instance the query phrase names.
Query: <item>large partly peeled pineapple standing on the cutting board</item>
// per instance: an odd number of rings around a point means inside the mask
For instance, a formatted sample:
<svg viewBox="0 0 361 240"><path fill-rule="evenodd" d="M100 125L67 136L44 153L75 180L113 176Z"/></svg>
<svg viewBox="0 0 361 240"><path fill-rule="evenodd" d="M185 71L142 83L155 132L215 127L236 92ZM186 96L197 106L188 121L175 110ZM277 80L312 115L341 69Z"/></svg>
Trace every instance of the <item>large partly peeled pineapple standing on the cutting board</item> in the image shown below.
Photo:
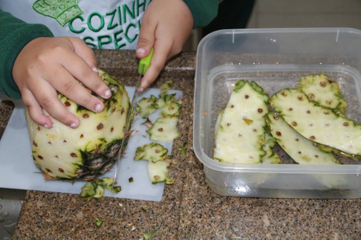
<svg viewBox="0 0 361 240"><path fill-rule="evenodd" d="M60 101L80 119L77 129L54 118L53 128L47 129L25 112L33 159L46 179L94 179L112 167L123 150L122 141L126 141L125 148L127 138L123 136L129 130L125 129L126 117L133 111L128 93L113 76L101 70L99 76L112 91L110 99L102 99L105 109L100 113L89 111L58 93Z"/></svg>

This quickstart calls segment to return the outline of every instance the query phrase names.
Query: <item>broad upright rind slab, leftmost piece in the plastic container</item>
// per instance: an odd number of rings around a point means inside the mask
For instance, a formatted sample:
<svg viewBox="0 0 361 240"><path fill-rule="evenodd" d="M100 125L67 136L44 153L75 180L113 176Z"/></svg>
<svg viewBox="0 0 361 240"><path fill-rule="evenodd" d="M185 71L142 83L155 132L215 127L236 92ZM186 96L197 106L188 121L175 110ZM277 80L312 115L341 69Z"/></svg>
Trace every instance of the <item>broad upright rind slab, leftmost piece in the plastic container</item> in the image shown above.
<svg viewBox="0 0 361 240"><path fill-rule="evenodd" d="M255 82L238 80L215 129L215 160L261 163L265 155L265 114L268 95Z"/></svg>

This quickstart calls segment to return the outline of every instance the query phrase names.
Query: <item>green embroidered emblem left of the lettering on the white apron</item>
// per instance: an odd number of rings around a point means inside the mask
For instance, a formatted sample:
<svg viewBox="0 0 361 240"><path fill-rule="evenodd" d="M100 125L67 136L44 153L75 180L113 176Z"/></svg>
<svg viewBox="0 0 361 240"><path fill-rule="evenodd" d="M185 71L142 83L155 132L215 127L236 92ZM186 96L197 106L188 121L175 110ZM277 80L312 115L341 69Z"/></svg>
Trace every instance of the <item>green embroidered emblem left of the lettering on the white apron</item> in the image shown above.
<svg viewBox="0 0 361 240"><path fill-rule="evenodd" d="M33 8L44 16L55 18L62 27L83 14L78 0L37 0Z"/></svg>

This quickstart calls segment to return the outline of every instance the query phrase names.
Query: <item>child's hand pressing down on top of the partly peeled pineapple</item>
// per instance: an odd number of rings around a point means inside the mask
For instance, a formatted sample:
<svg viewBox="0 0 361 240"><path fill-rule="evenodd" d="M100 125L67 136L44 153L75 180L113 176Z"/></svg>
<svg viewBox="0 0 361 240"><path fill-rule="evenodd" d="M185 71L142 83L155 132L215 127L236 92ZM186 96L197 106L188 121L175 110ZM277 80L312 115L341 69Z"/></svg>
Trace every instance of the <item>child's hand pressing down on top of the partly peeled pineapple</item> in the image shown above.
<svg viewBox="0 0 361 240"><path fill-rule="evenodd" d="M43 108L63 124L77 128L79 119L60 102L57 91L91 111L102 111L104 106L100 99L78 82L101 97L109 98L111 92L95 73L96 66L94 52L81 39L39 37L20 51L13 77L36 123L47 128L53 126Z"/></svg>

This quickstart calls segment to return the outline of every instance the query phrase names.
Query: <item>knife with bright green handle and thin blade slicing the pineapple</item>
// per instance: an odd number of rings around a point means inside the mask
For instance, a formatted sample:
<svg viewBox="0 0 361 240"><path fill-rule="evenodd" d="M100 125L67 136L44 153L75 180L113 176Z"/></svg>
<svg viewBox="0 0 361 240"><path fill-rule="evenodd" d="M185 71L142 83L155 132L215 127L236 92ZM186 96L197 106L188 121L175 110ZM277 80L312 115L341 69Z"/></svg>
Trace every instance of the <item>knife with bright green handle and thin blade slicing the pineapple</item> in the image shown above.
<svg viewBox="0 0 361 240"><path fill-rule="evenodd" d="M115 174L114 174L114 178L113 178L113 185L112 185L113 187L114 187L115 183L117 182L116 179L117 179L118 168L120 165L120 158L122 155L122 151L124 150L124 149L122 149L124 147L124 142L125 142L124 140L125 140L126 134L128 132L128 129L130 128L130 125L132 124L131 116L132 116L132 114L134 114L136 98L137 98L137 90L140 86L140 79L141 79L141 76L145 74L145 72L148 70L148 68L150 66L150 61L152 60L153 52L154 52L154 48L151 49L148 56L141 58L139 61L139 66L138 66L139 77L137 80L136 88L133 93L133 98L132 98L132 102L130 104L130 109L126 116L124 136L123 136L123 140L121 141L121 144L120 144L120 151L119 151L119 155L118 155L118 159L117 159L117 166L116 166Z"/></svg>

